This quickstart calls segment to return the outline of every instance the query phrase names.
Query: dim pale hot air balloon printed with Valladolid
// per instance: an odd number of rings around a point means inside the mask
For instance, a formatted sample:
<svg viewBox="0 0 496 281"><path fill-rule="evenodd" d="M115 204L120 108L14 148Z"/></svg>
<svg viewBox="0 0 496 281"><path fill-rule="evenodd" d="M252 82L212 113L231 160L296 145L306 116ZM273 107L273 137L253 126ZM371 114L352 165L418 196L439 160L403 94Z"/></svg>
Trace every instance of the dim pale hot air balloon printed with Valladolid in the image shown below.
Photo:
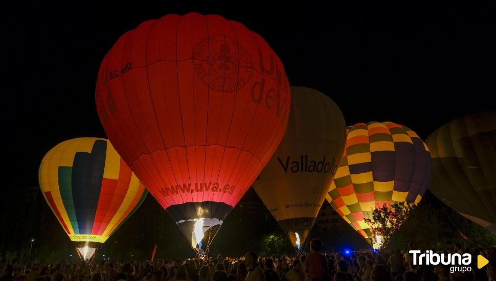
<svg viewBox="0 0 496 281"><path fill-rule="evenodd" d="M346 123L323 93L291 87L286 133L253 184L298 250L304 245L346 143Z"/></svg>

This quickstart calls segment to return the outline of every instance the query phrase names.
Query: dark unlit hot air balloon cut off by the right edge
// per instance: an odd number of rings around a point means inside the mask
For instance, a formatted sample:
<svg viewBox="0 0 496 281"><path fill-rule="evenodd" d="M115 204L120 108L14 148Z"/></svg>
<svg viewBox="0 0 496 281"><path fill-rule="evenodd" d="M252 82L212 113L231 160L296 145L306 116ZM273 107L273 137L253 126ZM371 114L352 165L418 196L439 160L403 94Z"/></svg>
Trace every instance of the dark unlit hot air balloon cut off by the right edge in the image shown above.
<svg viewBox="0 0 496 281"><path fill-rule="evenodd" d="M496 112L457 118L426 140L431 192L462 216L496 233Z"/></svg>

